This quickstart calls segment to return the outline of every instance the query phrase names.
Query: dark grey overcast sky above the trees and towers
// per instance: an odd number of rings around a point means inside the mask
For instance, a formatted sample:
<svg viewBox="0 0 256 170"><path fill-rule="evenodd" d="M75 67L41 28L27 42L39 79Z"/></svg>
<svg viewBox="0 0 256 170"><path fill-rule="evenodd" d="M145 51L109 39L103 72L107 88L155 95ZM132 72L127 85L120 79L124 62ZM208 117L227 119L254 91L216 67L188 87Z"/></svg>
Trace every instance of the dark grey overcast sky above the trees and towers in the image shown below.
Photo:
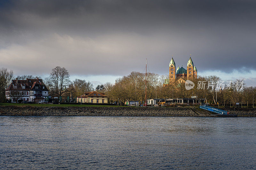
<svg viewBox="0 0 256 170"><path fill-rule="evenodd" d="M256 1L0 1L0 67L45 77L114 82L131 71L168 74L191 58L198 75L256 85Z"/></svg>

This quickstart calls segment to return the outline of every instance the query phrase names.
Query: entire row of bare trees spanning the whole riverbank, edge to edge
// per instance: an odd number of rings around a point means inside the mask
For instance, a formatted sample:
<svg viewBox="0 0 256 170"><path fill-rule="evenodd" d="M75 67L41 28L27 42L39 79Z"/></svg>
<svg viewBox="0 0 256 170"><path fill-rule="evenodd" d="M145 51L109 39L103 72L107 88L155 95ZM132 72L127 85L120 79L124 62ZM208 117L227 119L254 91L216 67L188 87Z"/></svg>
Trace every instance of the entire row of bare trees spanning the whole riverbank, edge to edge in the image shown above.
<svg viewBox="0 0 256 170"><path fill-rule="evenodd" d="M6 68L0 69L0 102L6 102L5 89L14 79L13 71ZM32 75L17 76L18 79L41 78ZM146 100L145 74L131 72L127 76L117 78L116 82L107 82L98 85L95 90L109 96L109 102L124 105L125 101L139 101L141 104ZM247 87L243 80L235 80L221 86L221 79L218 76L198 76L191 80L195 87L186 90L185 83L169 82L169 75L148 74L147 75L147 99L176 99L191 98L205 99L207 103L221 103L224 106L230 103L245 103L247 106L252 104L255 97L256 87ZM240 86L238 82L242 82ZM44 78L44 84L49 90L49 96L57 97L60 101L75 101L76 97L84 92L93 91L90 81L75 79L70 80L70 74L64 67L55 67L50 75ZM223 85L223 84L222 84ZM220 89L220 87L222 87Z"/></svg>

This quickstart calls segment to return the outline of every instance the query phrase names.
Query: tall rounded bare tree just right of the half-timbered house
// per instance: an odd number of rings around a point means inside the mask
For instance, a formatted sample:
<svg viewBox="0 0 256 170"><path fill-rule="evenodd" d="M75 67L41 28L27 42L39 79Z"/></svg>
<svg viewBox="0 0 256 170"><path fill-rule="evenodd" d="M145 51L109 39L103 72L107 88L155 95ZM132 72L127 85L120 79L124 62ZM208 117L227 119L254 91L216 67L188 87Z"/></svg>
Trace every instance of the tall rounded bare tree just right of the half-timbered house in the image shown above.
<svg viewBox="0 0 256 170"><path fill-rule="evenodd" d="M52 69L52 72L49 76L49 86L52 88L54 95L58 96L60 99L62 93L64 93L64 88L66 85L69 85L69 72L66 68L61 68L60 66Z"/></svg>

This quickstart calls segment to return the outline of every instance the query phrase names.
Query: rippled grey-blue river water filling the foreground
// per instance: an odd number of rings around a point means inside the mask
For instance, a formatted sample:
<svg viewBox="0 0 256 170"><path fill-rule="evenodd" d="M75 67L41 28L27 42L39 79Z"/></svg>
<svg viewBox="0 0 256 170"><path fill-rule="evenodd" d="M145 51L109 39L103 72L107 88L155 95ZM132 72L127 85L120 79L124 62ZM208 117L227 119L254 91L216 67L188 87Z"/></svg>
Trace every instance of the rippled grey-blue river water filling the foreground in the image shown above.
<svg viewBox="0 0 256 170"><path fill-rule="evenodd" d="M256 118L0 116L0 169L256 169Z"/></svg>

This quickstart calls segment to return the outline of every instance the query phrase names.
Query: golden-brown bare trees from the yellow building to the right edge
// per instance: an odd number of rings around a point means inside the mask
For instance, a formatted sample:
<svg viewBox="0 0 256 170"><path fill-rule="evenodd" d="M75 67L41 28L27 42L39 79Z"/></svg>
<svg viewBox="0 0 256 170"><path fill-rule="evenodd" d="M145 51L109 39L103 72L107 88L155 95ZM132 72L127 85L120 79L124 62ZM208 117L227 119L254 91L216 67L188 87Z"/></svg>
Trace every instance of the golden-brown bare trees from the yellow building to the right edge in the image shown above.
<svg viewBox="0 0 256 170"><path fill-rule="evenodd" d="M190 90L186 89L184 82L169 82L169 75L148 74L147 81L147 99L166 100L195 96L197 100L205 99L207 103L221 103L224 106L230 103L245 103L248 106L255 102L256 87L247 87L243 79L221 84L223 82L216 75L198 76L191 80L195 87ZM110 102L118 105L132 100L142 104L146 100L145 75L140 72L131 72L128 76L117 78L116 83L108 82L104 86Z"/></svg>

